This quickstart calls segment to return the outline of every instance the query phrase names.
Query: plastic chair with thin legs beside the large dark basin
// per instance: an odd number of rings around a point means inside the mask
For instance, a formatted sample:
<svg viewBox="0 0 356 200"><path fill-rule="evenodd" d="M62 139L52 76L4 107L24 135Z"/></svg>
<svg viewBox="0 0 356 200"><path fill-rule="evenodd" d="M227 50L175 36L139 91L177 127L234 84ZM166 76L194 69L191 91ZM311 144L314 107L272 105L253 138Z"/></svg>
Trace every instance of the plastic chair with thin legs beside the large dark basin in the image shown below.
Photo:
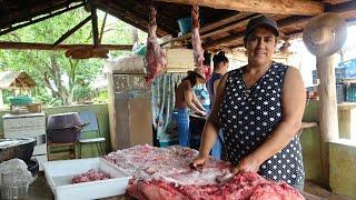
<svg viewBox="0 0 356 200"><path fill-rule="evenodd" d="M81 122L87 123L87 126L85 126L81 129L80 139L78 141L79 158L81 158L81 147L83 144L88 144L88 143L95 143L97 146L99 154L101 154L101 156L105 154L106 152L105 152L103 143L105 143L106 139L103 137L101 137L100 129L99 129L99 122L98 122L98 118L97 118L96 113L93 113L92 111L81 111L81 112L79 112L79 117L80 117ZM88 132L96 132L97 138L81 139Z"/></svg>

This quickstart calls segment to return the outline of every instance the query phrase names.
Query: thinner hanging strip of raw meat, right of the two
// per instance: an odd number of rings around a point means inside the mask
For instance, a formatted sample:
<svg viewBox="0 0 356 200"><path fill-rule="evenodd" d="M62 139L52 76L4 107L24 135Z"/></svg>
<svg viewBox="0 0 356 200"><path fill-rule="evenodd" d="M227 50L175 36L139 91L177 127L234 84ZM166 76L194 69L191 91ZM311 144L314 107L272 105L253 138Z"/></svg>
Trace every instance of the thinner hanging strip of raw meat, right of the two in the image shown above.
<svg viewBox="0 0 356 200"><path fill-rule="evenodd" d="M201 48L201 40L199 36L199 7L192 6L191 9L191 32L192 32L192 53L194 53L194 62L197 68L202 68L204 61L204 50Z"/></svg>

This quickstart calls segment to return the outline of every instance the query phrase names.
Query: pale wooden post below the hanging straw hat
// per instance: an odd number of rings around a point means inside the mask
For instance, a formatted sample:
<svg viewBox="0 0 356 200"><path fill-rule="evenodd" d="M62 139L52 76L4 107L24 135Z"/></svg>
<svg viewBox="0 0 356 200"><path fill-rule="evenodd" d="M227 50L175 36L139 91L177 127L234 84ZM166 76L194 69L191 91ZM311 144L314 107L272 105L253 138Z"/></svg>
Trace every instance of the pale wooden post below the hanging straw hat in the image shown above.
<svg viewBox="0 0 356 200"><path fill-rule="evenodd" d="M322 174L323 183L329 186L329 141L338 139L335 69L333 56L317 58L319 84L319 126L322 133Z"/></svg>

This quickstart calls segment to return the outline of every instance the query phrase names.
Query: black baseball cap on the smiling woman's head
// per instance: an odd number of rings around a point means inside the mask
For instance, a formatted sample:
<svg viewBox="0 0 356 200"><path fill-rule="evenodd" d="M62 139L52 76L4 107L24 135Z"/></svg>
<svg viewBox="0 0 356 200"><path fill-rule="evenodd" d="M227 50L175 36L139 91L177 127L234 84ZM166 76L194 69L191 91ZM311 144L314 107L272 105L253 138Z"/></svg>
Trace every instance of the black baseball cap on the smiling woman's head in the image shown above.
<svg viewBox="0 0 356 200"><path fill-rule="evenodd" d="M256 29L257 27L269 28L275 33L276 37L279 36L277 22L275 20L267 18L266 16L260 16L258 18L254 18L248 21L246 32L245 32L245 38L248 37L248 34L250 34L254 31L254 29Z"/></svg>

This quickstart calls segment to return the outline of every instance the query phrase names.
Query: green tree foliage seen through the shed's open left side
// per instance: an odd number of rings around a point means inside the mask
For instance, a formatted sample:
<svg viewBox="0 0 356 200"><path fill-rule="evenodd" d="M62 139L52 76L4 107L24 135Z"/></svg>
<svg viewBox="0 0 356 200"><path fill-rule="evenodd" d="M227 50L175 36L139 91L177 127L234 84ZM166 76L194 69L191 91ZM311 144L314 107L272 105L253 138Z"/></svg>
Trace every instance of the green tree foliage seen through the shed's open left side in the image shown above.
<svg viewBox="0 0 356 200"><path fill-rule="evenodd" d="M42 22L12 31L0 37L3 41L53 43L65 32L78 24L90 13L77 9L50 18ZM103 13L99 12L99 27ZM112 17L111 17L112 18ZM105 27L102 43L131 43L130 26L122 21L115 21ZM140 32L140 37L146 37ZM81 29L70 36L65 43L92 43L91 23L86 23ZM115 56L128 52L116 52ZM88 91L89 83L102 72L103 60L86 59L73 60L66 58L63 51L40 50L0 50L0 68L2 70L24 70L38 83L37 97L41 102L51 104L71 104L76 90ZM86 90L83 90L86 89ZM81 97L85 98L85 97Z"/></svg>

